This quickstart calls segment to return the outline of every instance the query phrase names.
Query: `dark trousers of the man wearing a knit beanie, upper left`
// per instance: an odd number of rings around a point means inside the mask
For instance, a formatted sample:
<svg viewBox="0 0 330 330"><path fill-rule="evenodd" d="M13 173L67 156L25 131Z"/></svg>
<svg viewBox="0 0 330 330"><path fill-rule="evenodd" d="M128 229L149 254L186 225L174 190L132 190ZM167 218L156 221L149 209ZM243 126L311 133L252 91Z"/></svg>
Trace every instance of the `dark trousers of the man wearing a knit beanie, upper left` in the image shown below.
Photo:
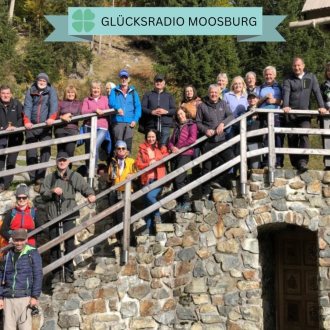
<svg viewBox="0 0 330 330"><path fill-rule="evenodd" d="M42 129L34 129L34 130L27 130L26 131L26 144L35 143L39 141L48 141L52 138L52 129L51 128L42 128ZM40 148L40 163L48 162L50 158L50 146ZM26 162L28 165L35 165L38 164L38 151L37 148L33 148L27 150L26 152ZM34 170L30 171L30 180L36 181L43 179L45 177L46 170Z"/></svg>

